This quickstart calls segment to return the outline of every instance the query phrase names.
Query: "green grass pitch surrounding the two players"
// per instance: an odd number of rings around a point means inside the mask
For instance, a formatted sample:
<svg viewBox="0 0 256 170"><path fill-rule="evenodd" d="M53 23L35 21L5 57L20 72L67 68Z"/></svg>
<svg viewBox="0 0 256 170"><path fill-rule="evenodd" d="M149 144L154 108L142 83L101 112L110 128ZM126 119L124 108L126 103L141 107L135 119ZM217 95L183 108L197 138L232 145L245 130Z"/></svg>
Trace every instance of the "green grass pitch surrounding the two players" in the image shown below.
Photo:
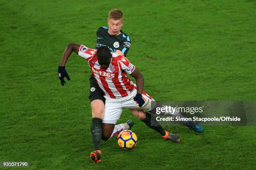
<svg viewBox="0 0 256 170"><path fill-rule="evenodd" d="M108 12L124 13L131 36L127 58L156 100L256 100L255 0L0 0L0 162L27 161L31 170L255 169L256 126L164 127L179 144L161 139L127 109L138 144L102 142L93 164L90 69L72 54L64 87L57 68L65 46L94 48Z"/></svg>

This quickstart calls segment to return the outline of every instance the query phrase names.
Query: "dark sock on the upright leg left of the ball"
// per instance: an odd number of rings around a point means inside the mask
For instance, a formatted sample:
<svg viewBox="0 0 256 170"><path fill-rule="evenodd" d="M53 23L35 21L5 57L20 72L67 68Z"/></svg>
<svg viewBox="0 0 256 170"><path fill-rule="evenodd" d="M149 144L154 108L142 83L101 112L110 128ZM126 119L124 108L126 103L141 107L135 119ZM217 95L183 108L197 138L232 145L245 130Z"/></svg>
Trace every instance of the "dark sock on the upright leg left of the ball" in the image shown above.
<svg viewBox="0 0 256 170"><path fill-rule="evenodd" d="M92 133L92 142L94 150L100 150L100 140L101 140L101 125L102 119L94 117L92 118L91 133Z"/></svg>

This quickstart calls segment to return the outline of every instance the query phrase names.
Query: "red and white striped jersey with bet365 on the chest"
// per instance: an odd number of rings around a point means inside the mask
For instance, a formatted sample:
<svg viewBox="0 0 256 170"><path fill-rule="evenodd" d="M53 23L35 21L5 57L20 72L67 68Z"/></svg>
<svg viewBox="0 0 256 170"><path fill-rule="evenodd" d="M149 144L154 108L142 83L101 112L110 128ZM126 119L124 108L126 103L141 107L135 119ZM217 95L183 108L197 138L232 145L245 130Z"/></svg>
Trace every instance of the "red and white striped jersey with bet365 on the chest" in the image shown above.
<svg viewBox="0 0 256 170"><path fill-rule="evenodd" d="M131 74L135 70L124 56L112 53L112 59L107 69L102 69L96 56L97 50L81 45L78 55L89 63L92 74L105 95L110 98L120 98L129 95L134 90L131 79L126 73Z"/></svg>

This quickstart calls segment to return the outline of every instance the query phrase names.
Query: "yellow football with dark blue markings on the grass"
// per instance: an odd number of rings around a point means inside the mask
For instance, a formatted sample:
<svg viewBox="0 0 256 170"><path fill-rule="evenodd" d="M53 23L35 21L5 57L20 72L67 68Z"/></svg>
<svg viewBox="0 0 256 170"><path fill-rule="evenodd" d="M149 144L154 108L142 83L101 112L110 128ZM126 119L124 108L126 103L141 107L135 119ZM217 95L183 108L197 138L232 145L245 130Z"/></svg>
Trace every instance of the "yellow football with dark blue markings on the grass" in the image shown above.
<svg viewBox="0 0 256 170"><path fill-rule="evenodd" d="M134 148L137 144L137 136L131 130L123 130L118 135L118 145L125 150Z"/></svg>

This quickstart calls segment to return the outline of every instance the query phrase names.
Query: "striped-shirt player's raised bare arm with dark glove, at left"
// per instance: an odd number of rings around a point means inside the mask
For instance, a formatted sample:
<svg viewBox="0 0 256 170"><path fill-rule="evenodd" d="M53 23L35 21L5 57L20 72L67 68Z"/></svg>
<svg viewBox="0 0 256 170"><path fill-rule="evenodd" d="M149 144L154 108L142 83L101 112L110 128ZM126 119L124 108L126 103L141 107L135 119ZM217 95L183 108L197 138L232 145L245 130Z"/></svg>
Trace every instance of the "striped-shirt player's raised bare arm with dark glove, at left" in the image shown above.
<svg viewBox="0 0 256 170"><path fill-rule="evenodd" d="M64 86L64 83L66 83L64 80L64 77L67 77L67 80L70 80L69 75L65 69L65 64L73 51L78 54L80 46L81 45L79 45L79 44L69 43L65 48L65 51L62 55L61 63L59 65L59 69L58 69L58 76L59 76L59 80L61 80L62 86Z"/></svg>

